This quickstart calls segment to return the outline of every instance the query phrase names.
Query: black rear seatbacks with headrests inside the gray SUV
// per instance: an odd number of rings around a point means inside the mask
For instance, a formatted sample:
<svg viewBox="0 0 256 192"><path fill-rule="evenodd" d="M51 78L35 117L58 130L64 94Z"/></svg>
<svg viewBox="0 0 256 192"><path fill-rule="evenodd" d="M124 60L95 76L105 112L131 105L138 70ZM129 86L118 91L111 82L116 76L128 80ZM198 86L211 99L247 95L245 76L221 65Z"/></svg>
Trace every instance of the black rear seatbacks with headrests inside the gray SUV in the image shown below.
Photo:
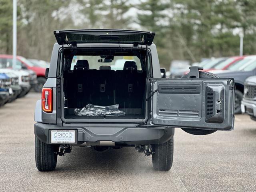
<svg viewBox="0 0 256 192"><path fill-rule="evenodd" d="M100 66L90 70L87 60L78 60L73 73L65 72L68 107L83 108L87 104L119 108L142 108L146 73L137 70L135 62L126 61L124 70Z"/></svg>

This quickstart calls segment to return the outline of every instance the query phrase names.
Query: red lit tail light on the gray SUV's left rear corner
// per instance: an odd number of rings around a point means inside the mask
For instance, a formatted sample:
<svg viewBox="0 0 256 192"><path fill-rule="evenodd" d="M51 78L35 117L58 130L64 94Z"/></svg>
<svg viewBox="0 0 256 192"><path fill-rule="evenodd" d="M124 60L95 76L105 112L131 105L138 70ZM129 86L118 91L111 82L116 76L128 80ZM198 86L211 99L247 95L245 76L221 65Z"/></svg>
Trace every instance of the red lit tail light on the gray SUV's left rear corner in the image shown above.
<svg viewBox="0 0 256 192"><path fill-rule="evenodd" d="M47 113L52 112L52 88L42 89L42 110Z"/></svg>

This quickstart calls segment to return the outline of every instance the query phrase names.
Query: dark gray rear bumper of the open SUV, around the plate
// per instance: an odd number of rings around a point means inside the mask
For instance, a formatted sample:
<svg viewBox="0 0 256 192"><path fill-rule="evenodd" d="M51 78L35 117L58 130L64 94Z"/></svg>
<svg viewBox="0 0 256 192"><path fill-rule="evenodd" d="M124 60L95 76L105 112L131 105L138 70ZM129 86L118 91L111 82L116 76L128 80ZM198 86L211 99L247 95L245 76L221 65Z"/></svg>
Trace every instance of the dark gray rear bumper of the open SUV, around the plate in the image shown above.
<svg viewBox="0 0 256 192"><path fill-rule="evenodd" d="M76 143L112 141L116 144L139 145L164 143L174 135L170 127L62 127L35 123L34 134L42 142L51 144L50 130L76 130Z"/></svg>

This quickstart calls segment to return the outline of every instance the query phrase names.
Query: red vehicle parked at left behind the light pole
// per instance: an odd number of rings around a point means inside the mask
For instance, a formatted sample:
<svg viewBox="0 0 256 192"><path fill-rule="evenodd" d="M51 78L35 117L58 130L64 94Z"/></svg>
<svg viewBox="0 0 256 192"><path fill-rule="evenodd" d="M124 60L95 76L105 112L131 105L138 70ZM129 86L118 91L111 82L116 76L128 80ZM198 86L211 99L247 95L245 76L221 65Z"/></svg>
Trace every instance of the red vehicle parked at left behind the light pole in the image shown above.
<svg viewBox="0 0 256 192"><path fill-rule="evenodd" d="M12 55L0 55L0 59L6 64L6 68L12 67ZM46 82L44 67L35 66L32 62L22 56L17 56L16 68L32 70L36 73L37 80L36 84L32 84L36 92L41 92L44 83ZM35 81L34 81L35 82Z"/></svg>

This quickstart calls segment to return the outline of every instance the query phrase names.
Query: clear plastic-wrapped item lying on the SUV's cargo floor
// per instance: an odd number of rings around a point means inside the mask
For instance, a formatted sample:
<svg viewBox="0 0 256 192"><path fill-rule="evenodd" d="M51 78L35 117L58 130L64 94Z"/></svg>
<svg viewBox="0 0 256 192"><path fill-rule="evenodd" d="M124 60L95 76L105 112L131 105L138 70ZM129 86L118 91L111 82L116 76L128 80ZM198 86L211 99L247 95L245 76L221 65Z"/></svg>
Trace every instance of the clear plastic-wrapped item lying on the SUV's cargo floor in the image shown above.
<svg viewBox="0 0 256 192"><path fill-rule="evenodd" d="M118 104L106 107L88 104L82 109L75 108L74 113L77 116L124 116L125 112L118 107Z"/></svg>

